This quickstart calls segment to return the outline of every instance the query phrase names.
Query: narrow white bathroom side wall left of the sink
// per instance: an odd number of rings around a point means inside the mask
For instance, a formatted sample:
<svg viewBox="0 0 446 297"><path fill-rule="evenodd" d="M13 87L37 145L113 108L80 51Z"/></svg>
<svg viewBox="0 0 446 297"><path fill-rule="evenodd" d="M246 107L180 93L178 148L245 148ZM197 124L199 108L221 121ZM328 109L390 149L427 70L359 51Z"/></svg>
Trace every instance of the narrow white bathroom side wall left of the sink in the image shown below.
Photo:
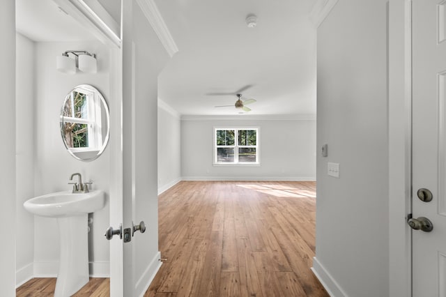
<svg viewBox="0 0 446 297"><path fill-rule="evenodd" d="M16 283L20 285L33 275L34 215L23 207L34 195L34 43L17 33L16 62Z"/></svg>

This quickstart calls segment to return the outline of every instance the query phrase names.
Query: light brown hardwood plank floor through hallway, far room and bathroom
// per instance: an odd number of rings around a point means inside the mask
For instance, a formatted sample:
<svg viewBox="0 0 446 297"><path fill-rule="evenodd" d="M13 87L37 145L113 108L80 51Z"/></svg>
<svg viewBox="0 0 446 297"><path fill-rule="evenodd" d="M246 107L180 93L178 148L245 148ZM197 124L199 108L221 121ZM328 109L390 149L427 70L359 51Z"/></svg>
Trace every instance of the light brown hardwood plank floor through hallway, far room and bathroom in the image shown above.
<svg viewBox="0 0 446 297"><path fill-rule="evenodd" d="M144 296L328 296L310 267L316 183L183 181L158 199L161 266ZM75 296L109 296L91 279ZM17 296L52 296L55 279Z"/></svg>

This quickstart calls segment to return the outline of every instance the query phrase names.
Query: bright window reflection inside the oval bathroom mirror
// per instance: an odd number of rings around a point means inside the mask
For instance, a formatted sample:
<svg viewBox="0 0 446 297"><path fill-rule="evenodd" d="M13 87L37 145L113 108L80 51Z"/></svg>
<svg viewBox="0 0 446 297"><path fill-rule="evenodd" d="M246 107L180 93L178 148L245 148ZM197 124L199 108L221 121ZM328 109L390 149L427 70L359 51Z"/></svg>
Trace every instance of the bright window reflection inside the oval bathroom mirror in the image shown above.
<svg viewBox="0 0 446 297"><path fill-rule="evenodd" d="M63 137L72 152L98 151L102 146L101 108L97 93L77 88L63 107Z"/></svg>

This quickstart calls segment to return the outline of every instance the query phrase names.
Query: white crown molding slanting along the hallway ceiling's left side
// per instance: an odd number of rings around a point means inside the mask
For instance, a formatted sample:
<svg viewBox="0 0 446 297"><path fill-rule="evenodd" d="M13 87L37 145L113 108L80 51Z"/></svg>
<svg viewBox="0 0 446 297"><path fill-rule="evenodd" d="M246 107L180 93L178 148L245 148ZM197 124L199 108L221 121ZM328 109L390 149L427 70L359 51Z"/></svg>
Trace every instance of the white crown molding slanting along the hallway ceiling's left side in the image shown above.
<svg viewBox="0 0 446 297"><path fill-rule="evenodd" d="M153 30L155 31L164 49L166 49L167 54L170 57L174 56L178 52L178 47L176 46L174 38L171 36L169 29L167 28L164 19L158 10L154 0L136 0L139 7L141 7L142 12L147 17L148 22L150 22Z"/></svg>

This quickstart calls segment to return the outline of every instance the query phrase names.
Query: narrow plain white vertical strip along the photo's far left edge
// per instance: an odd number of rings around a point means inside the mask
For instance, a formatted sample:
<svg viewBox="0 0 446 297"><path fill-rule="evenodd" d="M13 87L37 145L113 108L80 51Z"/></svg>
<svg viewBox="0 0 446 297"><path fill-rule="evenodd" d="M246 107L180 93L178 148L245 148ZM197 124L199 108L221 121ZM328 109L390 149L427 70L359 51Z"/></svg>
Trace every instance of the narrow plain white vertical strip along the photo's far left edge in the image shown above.
<svg viewBox="0 0 446 297"><path fill-rule="evenodd" d="M0 287L15 296L15 1L0 9Z"/></svg>

